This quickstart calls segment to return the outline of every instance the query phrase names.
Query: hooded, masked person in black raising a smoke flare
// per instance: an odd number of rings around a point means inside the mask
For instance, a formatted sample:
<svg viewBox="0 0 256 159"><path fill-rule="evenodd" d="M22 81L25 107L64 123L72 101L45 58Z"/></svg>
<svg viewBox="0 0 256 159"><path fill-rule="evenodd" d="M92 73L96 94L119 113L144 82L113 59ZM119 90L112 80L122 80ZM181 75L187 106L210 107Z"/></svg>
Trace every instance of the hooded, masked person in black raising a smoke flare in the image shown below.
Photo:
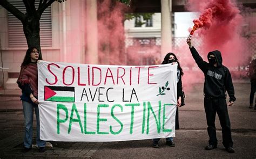
<svg viewBox="0 0 256 159"><path fill-rule="evenodd" d="M207 132L210 140L206 150L217 148L218 140L216 137L215 117L216 112L219 116L222 128L223 145L228 153L234 153L233 141L231 137L230 118L228 117L227 105L233 106L234 86L230 71L222 64L222 57L219 50L214 50L207 55L208 62L205 62L193 47L191 38L187 38L187 44L190 52L196 61L198 67L205 75L204 82L204 107L207 120ZM230 100L226 103L226 91Z"/></svg>

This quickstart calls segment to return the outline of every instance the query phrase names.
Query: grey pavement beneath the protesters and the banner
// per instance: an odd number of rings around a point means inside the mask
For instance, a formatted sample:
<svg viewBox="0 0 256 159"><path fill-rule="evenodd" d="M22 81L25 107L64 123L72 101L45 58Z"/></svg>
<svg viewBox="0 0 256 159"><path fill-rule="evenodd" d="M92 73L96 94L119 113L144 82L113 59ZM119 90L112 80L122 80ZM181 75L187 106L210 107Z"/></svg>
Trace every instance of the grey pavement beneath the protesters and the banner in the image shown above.
<svg viewBox="0 0 256 159"><path fill-rule="evenodd" d="M56 142L44 153L23 149L23 111L20 90L0 90L0 158L256 158L256 110L248 109L250 82L235 82L233 107L228 107L231 120L234 154L225 151L221 127L216 117L218 148L204 150L208 143L203 106L203 83L193 84L186 91L186 105L179 109L180 129L176 131L176 147L160 140L159 148L151 140L120 142ZM34 118L35 119L35 118ZM34 121L34 130L36 122ZM35 132L35 131L34 131ZM36 136L34 134L33 136ZM35 138L33 138L35 143Z"/></svg>

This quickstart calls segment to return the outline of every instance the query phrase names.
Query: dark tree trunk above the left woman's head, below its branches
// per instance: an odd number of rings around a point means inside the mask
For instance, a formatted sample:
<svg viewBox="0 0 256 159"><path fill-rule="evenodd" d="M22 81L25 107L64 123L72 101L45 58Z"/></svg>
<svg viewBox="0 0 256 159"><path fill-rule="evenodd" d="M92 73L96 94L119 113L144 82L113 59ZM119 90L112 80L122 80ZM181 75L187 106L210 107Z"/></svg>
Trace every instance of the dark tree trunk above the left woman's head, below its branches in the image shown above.
<svg viewBox="0 0 256 159"><path fill-rule="evenodd" d="M26 20L23 22L23 31L26 37L28 47L36 47L39 49L39 57L42 58L40 45L40 18L36 15L26 15Z"/></svg>

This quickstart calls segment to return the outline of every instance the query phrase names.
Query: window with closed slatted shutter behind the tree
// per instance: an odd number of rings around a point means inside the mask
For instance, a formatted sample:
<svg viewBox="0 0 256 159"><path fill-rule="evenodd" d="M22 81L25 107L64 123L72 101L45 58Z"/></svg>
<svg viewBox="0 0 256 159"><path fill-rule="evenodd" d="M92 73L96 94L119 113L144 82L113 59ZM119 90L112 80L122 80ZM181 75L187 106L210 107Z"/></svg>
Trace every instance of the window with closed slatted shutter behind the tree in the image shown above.
<svg viewBox="0 0 256 159"><path fill-rule="evenodd" d="M19 11L25 13L26 8L22 1L10 2ZM35 2L36 8L39 1ZM51 29L51 6L43 12L40 20L40 41L41 47L52 46L52 29ZM20 20L8 12L8 43L9 47L27 47L26 38L23 32L23 26Z"/></svg>

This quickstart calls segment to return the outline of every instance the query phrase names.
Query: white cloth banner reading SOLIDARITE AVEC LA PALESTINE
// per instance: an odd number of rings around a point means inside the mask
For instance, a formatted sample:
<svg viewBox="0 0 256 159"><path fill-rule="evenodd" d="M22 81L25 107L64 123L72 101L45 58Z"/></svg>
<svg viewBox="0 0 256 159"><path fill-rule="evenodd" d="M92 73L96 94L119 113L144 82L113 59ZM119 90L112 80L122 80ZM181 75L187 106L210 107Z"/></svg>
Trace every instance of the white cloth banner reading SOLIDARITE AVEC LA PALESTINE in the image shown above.
<svg viewBox="0 0 256 159"><path fill-rule="evenodd" d="M40 139L125 141L175 136L177 64L38 63Z"/></svg>

